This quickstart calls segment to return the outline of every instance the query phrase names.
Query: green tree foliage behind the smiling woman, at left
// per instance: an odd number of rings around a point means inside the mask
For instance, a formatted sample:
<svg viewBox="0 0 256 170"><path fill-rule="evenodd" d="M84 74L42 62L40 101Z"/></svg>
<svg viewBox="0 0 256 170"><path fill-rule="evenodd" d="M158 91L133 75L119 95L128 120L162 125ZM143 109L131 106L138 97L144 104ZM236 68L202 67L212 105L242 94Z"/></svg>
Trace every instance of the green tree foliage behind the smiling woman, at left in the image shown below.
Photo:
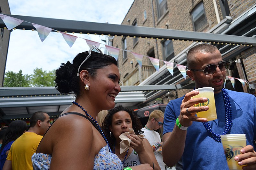
<svg viewBox="0 0 256 170"><path fill-rule="evenodd" d="M55 70L43 71L42 68L36 68L33 74L22 75L20 70L18 73L8 71L4 75L4 87L43 87L54 86Z"/></svg>

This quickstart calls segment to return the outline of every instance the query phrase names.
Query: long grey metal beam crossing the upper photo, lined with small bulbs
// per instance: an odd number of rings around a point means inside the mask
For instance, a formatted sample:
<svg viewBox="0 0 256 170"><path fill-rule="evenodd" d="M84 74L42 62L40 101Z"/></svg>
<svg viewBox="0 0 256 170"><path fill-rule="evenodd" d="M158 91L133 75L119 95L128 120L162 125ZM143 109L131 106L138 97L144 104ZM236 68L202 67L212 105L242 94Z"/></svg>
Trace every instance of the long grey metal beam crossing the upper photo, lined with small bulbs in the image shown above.
<svg viewBox="0 0 256 170"><path fill-rule="evenodd" d="M58 30L61 32L75 32L75 33L90 33L90 34L105 34L105 35L118 35L118 36L136 36L136 37L148 37L159 39L174 39L174 40L189 40L189 41L211 41L211 42L223 42L231 44L246 44L256 46L256 38L236 36L236 35L224 35L215 33L202 33L193 31L182 31L142 26L125 26L116 24L104 24L85 21L74 21L65 19L54 18L40 18L20 15L8 15L13 18L18 18L27 22L21 23L16 29L35 29L31 23L39 24ZM5 24L0 20L0 27L4 27Z"/></svg>

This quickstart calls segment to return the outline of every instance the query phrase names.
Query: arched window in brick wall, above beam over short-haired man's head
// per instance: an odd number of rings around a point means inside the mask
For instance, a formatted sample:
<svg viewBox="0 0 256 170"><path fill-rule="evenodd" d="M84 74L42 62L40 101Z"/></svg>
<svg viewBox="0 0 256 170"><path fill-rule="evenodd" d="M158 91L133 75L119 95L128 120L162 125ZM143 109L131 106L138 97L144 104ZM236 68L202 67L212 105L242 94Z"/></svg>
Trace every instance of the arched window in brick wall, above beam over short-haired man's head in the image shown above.
<svg viewBox="0 0 256 170"><path fill-rule="evenodd" d="M200 30L205 24L207 24L203 2L196 5L191 12L191 16L195 31Z"/></svg>

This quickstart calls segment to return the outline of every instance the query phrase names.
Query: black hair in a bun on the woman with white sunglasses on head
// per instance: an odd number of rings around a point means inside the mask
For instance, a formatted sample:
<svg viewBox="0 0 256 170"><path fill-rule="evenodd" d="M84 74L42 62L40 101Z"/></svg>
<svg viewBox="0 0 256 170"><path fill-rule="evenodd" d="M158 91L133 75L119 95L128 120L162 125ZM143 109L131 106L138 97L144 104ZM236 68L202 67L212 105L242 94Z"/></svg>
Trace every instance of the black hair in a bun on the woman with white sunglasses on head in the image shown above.
<svg viewBox="0 0 256 170"><path fill-rule="evenodd" d="M88 51L79 53L73 60L72 64L61 63L60 67L56 70L55 88L62 94L69 94L74 92L79 96L79 77L77 77L77 69L84 59L88 56ZM92 77L97 75L97 70L102 69L108 65L115 64L117 61L110 55L102 55L98 52L91 52L91 56L83 63L80 70L87 70L88 74Z"/></svg>

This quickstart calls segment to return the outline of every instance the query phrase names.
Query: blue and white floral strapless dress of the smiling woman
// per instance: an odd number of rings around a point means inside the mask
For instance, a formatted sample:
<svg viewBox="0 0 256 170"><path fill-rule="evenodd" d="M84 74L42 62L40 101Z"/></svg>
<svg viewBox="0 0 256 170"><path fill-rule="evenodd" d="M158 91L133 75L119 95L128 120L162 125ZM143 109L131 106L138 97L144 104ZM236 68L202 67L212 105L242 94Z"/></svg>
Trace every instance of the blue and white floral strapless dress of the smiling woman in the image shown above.
<svg viewBox="0 0 256 170"><path fill-rule="evenodd" d="M34 170L50 169L52 155L45 153L34 153L32 156L32 164ZM116 154L108 151L108 145L100 149L99 153L94 157L93 170L116 169L122 170L123 164Z"/></svg>

